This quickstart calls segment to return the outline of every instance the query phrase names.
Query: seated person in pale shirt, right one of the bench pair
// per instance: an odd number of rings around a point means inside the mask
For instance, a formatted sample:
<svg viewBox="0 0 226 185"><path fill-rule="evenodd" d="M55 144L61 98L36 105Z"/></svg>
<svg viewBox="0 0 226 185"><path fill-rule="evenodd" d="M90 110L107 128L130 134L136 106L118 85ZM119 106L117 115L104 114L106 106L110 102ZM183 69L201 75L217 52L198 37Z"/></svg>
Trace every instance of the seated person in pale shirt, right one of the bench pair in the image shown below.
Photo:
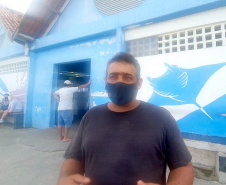
<svg viewBox="0 0 226 185"><path fill-rule="evenodd" d="M11 112L22 112L23 106L22 103L15 99L12 95L8 97L9 99L9 107L7 110L5 110L2 114L2 117L0 119L0 123L4 122L4 119L8 116Z"/></svg>

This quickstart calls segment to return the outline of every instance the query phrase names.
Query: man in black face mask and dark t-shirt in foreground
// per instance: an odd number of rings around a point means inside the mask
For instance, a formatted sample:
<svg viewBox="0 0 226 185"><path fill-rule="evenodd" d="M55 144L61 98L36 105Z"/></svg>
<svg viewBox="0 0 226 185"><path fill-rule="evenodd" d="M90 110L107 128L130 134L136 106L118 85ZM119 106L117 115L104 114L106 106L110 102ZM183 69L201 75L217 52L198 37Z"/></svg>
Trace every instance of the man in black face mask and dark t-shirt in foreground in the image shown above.
<svg viewBox="0 0 226 185"><path fill-rule="evenodd" d="M119 53L106 70L112 102L83 117L66 153L58 185L192 185L193 167L176 121L160 107L136 100L137 60Z"/></svg>

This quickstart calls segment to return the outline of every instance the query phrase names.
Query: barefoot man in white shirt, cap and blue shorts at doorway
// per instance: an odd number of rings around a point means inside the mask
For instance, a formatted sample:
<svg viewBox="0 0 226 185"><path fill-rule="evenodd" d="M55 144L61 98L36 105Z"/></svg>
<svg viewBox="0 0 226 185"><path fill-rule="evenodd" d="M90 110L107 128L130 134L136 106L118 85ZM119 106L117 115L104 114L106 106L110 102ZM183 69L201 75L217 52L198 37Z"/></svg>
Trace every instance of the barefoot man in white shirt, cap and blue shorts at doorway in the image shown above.
<svg viewBox="0 0 226 185"><path fill-rule="evenodd" d="M90 84L91 80L87 84L80 85L79 87L71 87L70 80L64 82L64 87L53 93L53 96L58 101L58 134L59 140L70 141L68 133L72 124L72 112L73 112L73 94L78 91L79 88L85 88ZM64 137L62 136L62 126L65 126Z"/></svg>

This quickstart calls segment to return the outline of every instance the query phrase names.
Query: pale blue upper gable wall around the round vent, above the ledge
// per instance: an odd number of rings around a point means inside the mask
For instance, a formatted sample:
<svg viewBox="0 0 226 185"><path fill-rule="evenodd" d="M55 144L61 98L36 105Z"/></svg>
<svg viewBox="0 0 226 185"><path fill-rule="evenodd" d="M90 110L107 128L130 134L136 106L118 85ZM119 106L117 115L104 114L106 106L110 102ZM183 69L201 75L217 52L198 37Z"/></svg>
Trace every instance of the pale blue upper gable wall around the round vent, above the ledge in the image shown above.
<svg viewBox="0 0 226 185"><path fill-rule="evenodd" d="M71 0L65 8L63 14L54 25L49 35L65 30L79 30L85 24L96 24L105 19L117 22L118 27L124 27L130 24L140 24L142 21L147 22L163 16L179 17L191 14L197 11L208 10L225 4L224 0L144 0L137 8L112 15L106 16L98 11L94 0L74 1ZM171 19L172 17L168 17ZM167 17L165 17L167 19ZM113 23L113 22L111 22ZM95 26L95 25L93 25ZM104 25L101 26L102 28ZM90 27L93 29L93 27Z"/></svg>

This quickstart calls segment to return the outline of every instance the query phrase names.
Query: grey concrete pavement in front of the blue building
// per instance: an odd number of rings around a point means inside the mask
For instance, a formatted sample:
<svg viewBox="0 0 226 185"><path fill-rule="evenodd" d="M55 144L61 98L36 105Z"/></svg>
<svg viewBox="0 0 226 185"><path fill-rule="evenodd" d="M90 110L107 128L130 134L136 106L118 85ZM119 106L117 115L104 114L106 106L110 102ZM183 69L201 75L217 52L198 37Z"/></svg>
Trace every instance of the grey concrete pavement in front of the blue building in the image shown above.
<svg viewBox="0 0 226 185"><path fill-rule="evenodd" d="M13 130L0 124L0 184L56 185L68 144L58 141L57 128ZM195 179L194 185L220 184Z"/></svg>

